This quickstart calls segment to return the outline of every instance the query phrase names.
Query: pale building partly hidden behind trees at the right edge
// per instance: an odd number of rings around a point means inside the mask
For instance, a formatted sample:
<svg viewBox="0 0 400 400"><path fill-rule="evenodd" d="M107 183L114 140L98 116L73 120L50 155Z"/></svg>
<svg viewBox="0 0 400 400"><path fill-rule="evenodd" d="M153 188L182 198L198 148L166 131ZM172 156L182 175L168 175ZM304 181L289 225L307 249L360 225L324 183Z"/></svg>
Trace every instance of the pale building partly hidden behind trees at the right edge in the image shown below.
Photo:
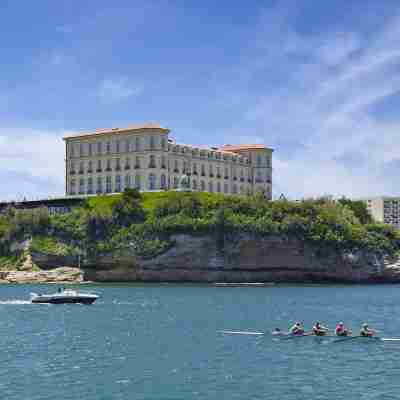
<svg viewBox="0 0 400 400"><path fill-rule="evenodd" d="M400 197L374 197L363 201L375 221L400 228Z"/></svg>

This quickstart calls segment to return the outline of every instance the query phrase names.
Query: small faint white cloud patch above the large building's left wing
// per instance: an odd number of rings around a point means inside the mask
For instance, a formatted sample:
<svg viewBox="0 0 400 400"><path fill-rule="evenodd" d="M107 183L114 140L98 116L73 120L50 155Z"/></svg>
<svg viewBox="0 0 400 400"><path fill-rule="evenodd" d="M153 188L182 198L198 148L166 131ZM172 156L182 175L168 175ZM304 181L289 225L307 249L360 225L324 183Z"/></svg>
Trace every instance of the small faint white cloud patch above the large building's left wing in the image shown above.
<svg viewBox="0 0 400 400"><path fill-rule="evenodd" d="M116 102L139 96L142 92L141 86L134 85L127 78L108 78L100 83L97 95L105 102Z"/></svg>

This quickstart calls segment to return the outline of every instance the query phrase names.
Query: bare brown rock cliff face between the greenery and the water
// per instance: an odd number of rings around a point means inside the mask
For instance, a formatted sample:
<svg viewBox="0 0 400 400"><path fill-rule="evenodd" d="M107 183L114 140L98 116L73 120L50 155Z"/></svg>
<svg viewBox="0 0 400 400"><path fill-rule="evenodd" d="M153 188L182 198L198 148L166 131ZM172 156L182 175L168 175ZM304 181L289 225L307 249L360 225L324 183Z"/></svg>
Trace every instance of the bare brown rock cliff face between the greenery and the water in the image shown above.
<svg viewBox="0 0 400 400"><path fill-rule="evenodd" d="M375 254L315 249L299 240L248 234L217 240L175 235L152 259L125 248L86 260L84 279L169 282L400 282L400 267ZM41 263L35 260L40 266Z"/></svg>

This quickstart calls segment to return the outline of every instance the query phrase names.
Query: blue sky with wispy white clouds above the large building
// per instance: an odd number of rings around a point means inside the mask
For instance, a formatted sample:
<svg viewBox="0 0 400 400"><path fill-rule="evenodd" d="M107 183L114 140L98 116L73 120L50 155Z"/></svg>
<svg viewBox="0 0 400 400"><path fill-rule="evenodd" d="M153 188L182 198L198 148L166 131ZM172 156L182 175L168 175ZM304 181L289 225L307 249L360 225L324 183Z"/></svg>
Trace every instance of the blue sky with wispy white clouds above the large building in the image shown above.
<svg viewBox="0 0 400 400"><path fill-rule="evenodd" d="M66 133L274 149L273 195L399 196L398 0L2 0L0 200L64 194Z"/></svg>

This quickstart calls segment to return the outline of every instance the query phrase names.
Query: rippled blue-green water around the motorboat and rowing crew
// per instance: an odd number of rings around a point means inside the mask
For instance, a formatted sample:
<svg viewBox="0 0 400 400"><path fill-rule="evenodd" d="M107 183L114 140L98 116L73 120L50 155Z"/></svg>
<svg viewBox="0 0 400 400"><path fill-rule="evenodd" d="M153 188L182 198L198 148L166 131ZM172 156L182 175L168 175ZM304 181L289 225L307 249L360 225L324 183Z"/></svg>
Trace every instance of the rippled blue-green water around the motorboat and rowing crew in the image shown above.
<svg viewBox="0 0 400 400"><path fill-rule="evenodd" d="M270 331L363 321L400 337L400 287L93 285L92 306L34 305L0 286L0 393L45 399L399 399L400 343L276 340Z"/></svg>

